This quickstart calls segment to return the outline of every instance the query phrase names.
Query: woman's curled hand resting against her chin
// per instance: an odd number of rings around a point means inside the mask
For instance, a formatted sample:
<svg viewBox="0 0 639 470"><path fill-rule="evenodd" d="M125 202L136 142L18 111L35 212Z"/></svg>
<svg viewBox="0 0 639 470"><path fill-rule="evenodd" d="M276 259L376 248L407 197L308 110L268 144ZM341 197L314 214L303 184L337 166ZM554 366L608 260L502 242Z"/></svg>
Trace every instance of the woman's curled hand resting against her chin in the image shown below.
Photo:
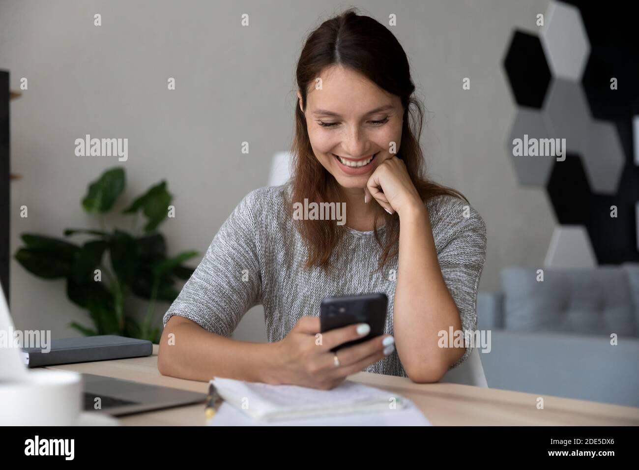
<svg viewBox="0 0 639 470"><path fill-rule="evenodd" d="M381 162L373 171L364 193L367 202L374 198L391 214L397 212L401 215L408 208L424 207L415 185L408 176L406 165L396 155Z"/></svg>

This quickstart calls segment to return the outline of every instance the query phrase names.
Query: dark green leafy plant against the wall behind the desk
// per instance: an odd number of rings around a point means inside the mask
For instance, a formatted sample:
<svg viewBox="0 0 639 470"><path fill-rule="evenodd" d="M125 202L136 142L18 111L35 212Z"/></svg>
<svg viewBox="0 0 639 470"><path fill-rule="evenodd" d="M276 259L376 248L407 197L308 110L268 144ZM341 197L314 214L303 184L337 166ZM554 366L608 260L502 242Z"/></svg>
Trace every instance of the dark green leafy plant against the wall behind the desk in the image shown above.
<svg viewBox="0 0 639 470"><path fill-rule="evenodd" d="M179 294L174 288L177 279L189 279L193 273L192 268L182 263L197 256L197 251L184 251L173 258L166 256L164 236L156 231L167 218L173 199L165 181L151 187L123 210L123 214L132 216L133 233L119 228L107 230L104 215L111 212L125 185L122 168L109 169L89 184L82 207L98 217L101 230L66 229L64 234L89 235L91 239L74 244L23 233L25 246L15 253L15 258L39 278L66 279L66 295L86 309L93 320L93 328L77 322L70 324L82 334L118 334L157 343L159 329L152 328L155 304L175 300ZM140 212L146 224L137 230ZM131 294L149 301L142 324L125 315L125 301Z"/></svg>

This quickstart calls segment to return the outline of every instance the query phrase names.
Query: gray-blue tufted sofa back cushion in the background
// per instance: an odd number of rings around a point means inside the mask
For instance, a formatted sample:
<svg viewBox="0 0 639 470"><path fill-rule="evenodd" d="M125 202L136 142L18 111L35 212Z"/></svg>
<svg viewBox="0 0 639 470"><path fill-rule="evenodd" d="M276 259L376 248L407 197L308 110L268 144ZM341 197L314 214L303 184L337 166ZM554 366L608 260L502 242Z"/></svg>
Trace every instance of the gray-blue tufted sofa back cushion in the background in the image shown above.
<svg viewBox="0 0 639 470"><path fill-rule="evenodd" d="M536 278L533 268L502 270L505 329L638 336L626 269L544 269L544 280Z"/></svg>

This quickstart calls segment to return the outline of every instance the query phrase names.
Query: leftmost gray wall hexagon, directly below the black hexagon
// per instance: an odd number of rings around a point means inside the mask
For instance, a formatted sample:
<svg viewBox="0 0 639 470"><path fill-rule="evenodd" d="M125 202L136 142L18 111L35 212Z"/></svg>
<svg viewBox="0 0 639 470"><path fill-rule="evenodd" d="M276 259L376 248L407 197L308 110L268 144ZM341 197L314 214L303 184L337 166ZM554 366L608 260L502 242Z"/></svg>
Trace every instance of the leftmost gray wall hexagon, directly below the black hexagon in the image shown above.
<svg viewBox="0 0 639 470"><path fill-rule="evenodd" d="M511 156L512 166L521 185L543 187L548 181L553 168L553 156L515 156L513 155L514 139L544 139L548 137L548 130L539 111L520 107L512 123L509 139L506 141L506 152Z"/></svg>

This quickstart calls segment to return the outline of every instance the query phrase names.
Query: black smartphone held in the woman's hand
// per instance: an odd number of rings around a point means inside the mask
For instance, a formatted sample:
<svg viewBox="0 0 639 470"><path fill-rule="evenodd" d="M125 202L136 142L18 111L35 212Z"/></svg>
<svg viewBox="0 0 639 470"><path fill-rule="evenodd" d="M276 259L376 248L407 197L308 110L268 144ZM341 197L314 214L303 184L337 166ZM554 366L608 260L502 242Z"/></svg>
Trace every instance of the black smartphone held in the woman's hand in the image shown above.
<svg viewBox="0 0 639 470"><path fill-rule="evenodd" d="M320 332L358 323L367 323L371 327L366 336L342 343L331 349L333 352L380 336L384 333L388 304L389 298L382 293L325 297L319 309Z"/></svg>

